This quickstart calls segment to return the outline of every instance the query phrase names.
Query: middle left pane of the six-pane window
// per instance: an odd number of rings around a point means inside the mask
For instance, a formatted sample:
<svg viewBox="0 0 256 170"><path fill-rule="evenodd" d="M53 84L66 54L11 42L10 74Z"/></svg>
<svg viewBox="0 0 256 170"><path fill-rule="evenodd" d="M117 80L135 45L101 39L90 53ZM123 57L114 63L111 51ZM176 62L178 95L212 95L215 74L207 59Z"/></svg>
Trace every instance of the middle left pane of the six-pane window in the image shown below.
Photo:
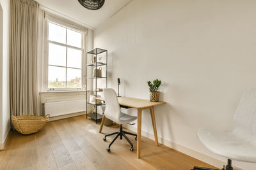
<svg viewBox="0 0 256 170"><path fill-rule="evenodd" d="M49 43L48 63L55 66L66 66L66 47Z"/></svg>

